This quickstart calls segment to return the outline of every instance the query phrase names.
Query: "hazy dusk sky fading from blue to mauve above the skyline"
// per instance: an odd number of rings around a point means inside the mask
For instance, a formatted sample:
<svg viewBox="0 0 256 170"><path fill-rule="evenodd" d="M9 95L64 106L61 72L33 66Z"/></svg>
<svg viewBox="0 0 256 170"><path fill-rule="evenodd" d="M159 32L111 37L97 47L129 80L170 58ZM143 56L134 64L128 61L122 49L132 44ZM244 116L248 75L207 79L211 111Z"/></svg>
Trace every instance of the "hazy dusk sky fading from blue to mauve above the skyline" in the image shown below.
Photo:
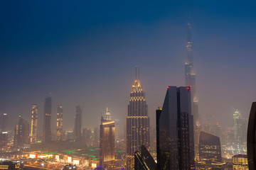
<svg viewBox="0 0 256 170"><path fill-rule="evenodd" d="M166 87L184 85L186 22L191 13L199 113L222 127L233 108L247 118L256 101L256 1L1 1L0 113L9 130L33 103L43 125L44 98L58 104L72 130L95 128L110 108L125 126L135 65L141 67L151 125Z"/></svg>

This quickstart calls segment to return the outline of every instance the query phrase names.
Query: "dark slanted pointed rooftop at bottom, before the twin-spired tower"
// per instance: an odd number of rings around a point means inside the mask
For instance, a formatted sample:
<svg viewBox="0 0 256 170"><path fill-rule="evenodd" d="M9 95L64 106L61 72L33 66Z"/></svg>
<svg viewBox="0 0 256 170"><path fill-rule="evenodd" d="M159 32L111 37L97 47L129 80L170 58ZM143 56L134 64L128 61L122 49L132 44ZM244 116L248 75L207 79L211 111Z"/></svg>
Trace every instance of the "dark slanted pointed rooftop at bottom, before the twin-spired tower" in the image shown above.
<svg viewBox="0 0 256 170"><path fill-rule="evenodd" d="M134 169L156 170L156 162L144 145L142 145L140 153L138 151L134 153Z"/></svg>

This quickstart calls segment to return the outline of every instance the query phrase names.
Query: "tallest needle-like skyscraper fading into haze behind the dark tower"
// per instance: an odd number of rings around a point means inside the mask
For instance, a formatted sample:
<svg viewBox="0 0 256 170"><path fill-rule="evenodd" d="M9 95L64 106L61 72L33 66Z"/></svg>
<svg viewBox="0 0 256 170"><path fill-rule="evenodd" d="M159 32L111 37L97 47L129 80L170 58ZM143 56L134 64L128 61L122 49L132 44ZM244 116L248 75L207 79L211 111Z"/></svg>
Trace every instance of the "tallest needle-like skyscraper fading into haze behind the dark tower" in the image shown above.
<svg viewBox="0 0 256 170"><path fill-rule="evenodd" d="M191 20L191 16L189 17ZM191 114L195 130L195 152L198 154L199 134L201 124L198 117L198 99L196 97L196 74L193 71L193 40L191 22L188 21L188 32L186 37L186 62L185 62L185 86L191 87Z"/></svg>

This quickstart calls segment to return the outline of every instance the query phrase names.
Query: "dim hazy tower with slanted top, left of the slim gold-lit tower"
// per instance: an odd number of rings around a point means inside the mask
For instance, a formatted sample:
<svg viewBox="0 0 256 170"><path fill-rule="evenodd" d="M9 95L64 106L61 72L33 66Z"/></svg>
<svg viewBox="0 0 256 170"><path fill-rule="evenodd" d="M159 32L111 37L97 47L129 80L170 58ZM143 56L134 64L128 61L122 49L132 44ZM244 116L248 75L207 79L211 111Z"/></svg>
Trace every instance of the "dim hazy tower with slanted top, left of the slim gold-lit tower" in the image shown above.
<svg viewBox="0 0 256 170"><path fill-rule="evenodd" d="M20 119L14 128L14 147L24 147L29 144L29 124L23 118Z"/></svg>

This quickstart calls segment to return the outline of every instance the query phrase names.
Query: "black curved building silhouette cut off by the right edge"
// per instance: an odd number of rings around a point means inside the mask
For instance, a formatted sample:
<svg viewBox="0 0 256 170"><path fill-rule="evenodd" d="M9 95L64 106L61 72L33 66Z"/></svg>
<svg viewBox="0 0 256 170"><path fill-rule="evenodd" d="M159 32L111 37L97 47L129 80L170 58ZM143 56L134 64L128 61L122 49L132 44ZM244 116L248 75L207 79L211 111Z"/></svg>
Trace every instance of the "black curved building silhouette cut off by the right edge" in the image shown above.
<svg viewBox="0 0 256 170"><path fill-rule="evenodd" d="M252 103L247 128L247 157L250 170L256 169L256 102Z"/></svg>

